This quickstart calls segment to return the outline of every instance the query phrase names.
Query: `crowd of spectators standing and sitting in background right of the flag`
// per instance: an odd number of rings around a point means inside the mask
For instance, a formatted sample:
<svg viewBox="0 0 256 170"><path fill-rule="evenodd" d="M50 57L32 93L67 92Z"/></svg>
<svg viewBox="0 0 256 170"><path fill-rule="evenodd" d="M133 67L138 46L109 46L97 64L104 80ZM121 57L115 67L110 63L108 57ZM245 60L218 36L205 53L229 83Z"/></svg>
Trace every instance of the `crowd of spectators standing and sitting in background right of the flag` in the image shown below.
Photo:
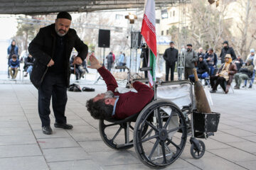
<svg viewBox="0 0 256 170"><path fill-rule="evenodd" d="M178 50L174 47L174 42L169 43L170 47L164 52L164 60L166 61L166 81L169 81L169 72L171 71L171 81L174 80L175 64L178 60ZM255 50L250 50L250 55L247 56L245 62L242 61L241 56L236 57L233 47L230 47L228 41L223 42L220 56L214 52L213 48L209 48L206 53L203 53L203 47L198 49L198 52L193 50L193 45L186 45L184 52L185 66L184 79L194 81L193 69L197 69L199 79L210 79L206 84L210 83L211 93L217 91L218 85L221 86L225 94L228 94L233 78L235 77L235 88L240 89L242 80L246 87L247 80L250 80L248 88L252 88L255 79L256 57ZM218 60L221 65L218 68Z"/></svg>

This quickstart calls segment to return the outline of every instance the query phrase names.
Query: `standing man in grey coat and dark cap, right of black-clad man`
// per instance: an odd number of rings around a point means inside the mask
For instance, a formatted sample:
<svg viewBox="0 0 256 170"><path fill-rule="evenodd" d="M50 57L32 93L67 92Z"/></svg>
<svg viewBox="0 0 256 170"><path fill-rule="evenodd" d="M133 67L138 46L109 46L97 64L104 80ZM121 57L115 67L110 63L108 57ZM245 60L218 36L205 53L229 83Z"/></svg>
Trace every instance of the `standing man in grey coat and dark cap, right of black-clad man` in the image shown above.
<svg viewBox="0 0 256 170"><path fill-rule="evenodd" d="M195 63L198 61L198 56L196 52L192 49L192 45L187 45L187 50L185 52L185 71L184 79L188 79L188 76L193 74L193 68L196 67Z"/></svg>

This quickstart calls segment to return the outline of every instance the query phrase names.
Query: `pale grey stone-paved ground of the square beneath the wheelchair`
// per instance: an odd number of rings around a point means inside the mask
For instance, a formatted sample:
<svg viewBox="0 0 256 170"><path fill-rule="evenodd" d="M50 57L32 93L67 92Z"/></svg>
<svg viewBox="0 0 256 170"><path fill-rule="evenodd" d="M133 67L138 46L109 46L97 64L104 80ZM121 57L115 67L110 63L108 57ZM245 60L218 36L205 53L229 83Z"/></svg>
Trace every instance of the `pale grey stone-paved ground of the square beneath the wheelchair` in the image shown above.
<svg viewBox="0 0 256 170"><path fill-rule="evenodd" d="M91 85L89 85L91 86ZM43 135L37 112L37 91L31 84L0 84L0 169L149 169L134 152L115 151L100 138L97 120L85 102L105 91L68 92L66 115L73 130L53 128ZM221 113L218 132L206 143L206 154L193 159L187 143L181 157L167 169L255 169L255 89L213 94L212 110Z"/></svg>

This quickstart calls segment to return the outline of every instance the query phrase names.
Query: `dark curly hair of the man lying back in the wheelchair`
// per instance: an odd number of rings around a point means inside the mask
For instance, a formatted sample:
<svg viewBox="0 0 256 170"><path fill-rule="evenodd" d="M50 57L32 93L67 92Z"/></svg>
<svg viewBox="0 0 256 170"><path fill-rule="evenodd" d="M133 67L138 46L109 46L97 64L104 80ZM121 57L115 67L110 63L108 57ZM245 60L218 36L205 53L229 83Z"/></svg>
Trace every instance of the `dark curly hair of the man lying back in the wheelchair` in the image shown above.
<svg viewBox="0 0 256 170"><path fill-rule="evenodd" d="M112 118L113 106L105 104L105 99L100 99L98 101L93 102L93 98L91 98L86 103L87 111L90 112L92 118L95 119L108 119Z"/></svg>

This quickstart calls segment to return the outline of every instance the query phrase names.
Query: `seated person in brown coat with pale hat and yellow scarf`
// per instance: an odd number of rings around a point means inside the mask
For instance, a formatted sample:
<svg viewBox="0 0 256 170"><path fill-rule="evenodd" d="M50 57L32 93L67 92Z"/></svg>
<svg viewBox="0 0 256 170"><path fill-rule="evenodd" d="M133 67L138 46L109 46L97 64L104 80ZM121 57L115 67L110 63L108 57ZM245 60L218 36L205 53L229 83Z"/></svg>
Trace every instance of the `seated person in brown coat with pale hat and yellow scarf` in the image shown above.
<svg viewBox="0 0 256 170"><path fill-rule="evenodd" d="M233 80L234 74L237 72L238 69L236 65L232 63L231 55L225 55L225 62L220 66L217 74L210 77L210 86L212 88L210 93L215 93L218 84L220 84L223 91L225 91L225 94L228 94L228 90L230 89L230 84Z"/></svg>

